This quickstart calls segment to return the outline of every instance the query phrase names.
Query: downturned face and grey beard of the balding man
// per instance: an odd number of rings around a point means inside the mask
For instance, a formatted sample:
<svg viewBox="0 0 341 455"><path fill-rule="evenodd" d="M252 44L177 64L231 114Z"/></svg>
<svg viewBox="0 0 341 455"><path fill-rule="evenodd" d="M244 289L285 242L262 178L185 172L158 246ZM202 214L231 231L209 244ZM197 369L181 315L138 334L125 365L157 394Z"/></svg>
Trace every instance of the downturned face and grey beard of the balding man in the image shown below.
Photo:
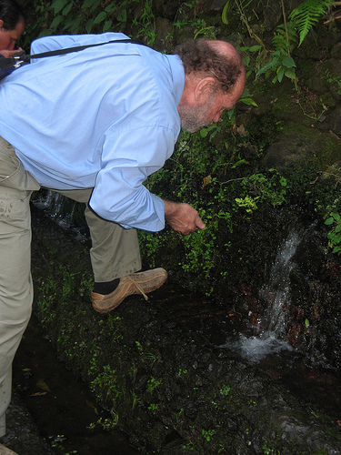
<svg viewBox="0 0 341 455"><path fill-rule="evenodd" d="M180 104L177 108L181 126L189 133L196 133L205 126L217 122L225 110L232 109L242 96L243 86L238 86L230 94L212 91L205 100L196 105Z"/></svg>

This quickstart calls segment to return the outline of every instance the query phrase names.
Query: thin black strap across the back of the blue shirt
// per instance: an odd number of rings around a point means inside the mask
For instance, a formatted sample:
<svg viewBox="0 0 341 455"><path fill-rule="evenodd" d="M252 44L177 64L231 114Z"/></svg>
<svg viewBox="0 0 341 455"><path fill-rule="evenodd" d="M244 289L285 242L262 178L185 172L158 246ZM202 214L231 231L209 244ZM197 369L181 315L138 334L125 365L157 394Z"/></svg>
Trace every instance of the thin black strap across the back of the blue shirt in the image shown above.
<svg viewBox="0 0 341 455"><path fill-rule="evenodd" d="M77 45L75 47L67 47L65 49L55 49L54 51L42 52L41 54L25 55L25 51L17 52L14 56L9 58L0 58L0 69L9 69L14 66L20 66L22 63L28 63L32 58L45 58L47 56L64 56L71 52L83 51L87 47L95 47L96 45L108 45L111 43L132 43L135 45L145 45L141 41L135 39L115 39L112 41L105 41L104 43L95 43L94 45Z"/></svg>

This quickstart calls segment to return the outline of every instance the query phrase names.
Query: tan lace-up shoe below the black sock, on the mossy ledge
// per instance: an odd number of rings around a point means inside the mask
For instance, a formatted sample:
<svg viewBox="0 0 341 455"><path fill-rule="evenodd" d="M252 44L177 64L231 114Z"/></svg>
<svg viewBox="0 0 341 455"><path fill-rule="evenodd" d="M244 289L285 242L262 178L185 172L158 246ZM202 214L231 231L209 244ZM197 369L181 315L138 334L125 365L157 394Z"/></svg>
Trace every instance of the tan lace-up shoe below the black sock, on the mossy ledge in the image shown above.
<svg viewBox="0 0 341 455"><path fill-rule="evenodd" d="M91 292L93 307L99 313L107 313L118 307L126 297L132 296L133 294L142 294L145 300L147 300L148 298L145 294L160 288L166 279L167 272L165 268L153 268L145 272L127 275L120 279L117 288L110 294L103 295Z"/></svg>

